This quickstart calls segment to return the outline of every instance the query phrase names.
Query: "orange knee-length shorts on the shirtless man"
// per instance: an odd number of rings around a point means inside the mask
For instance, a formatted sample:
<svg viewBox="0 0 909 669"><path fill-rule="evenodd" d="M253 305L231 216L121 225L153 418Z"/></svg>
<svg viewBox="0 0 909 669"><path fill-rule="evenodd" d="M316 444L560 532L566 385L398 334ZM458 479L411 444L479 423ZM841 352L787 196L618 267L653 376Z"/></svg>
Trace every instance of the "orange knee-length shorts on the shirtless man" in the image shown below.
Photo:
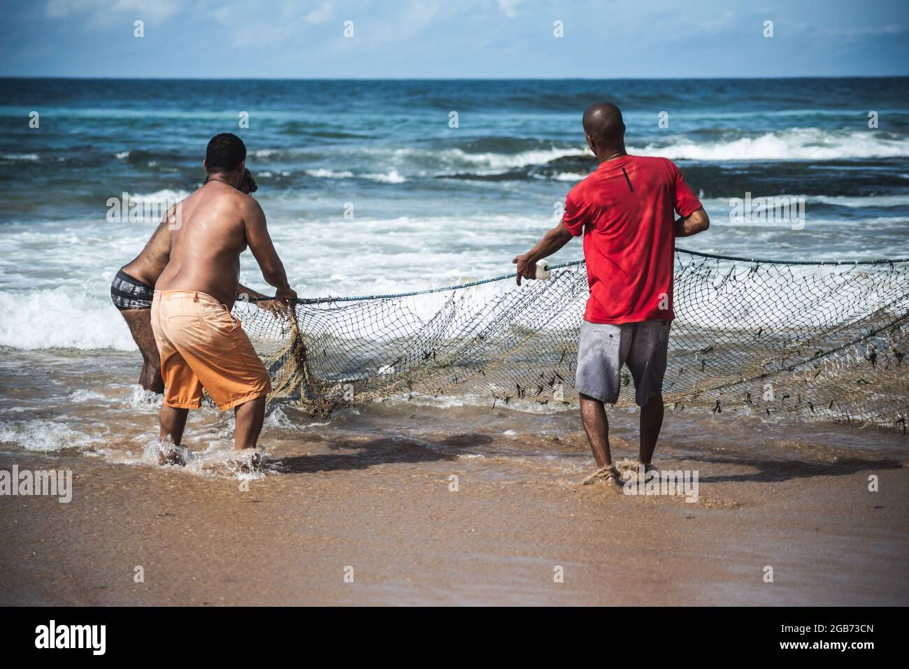
<svg viewBox="0 0 909 669"><path fill-rule="evenodd" d="M156 290L152 330L167 406L197 408L203 387L222 411L271 392L265 365L239 319L211 295Z"/></svg>

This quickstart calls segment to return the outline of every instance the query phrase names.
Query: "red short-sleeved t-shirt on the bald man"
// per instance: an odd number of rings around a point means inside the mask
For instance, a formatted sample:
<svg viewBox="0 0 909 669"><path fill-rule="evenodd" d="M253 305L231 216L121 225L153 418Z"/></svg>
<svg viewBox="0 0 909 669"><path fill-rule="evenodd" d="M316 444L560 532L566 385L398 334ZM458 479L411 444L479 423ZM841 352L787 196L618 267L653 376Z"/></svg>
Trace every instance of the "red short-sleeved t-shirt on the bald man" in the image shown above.
<svg viewBox="0 0 909 669"><path fill-rule="evenodd" d="M562 223L584 234L590 299L584 320L672 319L675 215L700 201L671 160L624 155L601 163L565 198Z"/></svg>

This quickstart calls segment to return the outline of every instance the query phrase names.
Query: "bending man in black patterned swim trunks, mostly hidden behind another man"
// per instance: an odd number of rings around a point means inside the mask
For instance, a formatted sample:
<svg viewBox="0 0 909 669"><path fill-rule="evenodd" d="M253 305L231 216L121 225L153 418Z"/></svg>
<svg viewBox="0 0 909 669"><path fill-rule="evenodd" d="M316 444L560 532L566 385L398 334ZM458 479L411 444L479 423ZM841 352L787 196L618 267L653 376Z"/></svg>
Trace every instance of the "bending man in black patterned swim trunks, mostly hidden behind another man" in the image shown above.
<svg viewBox="0 0 909 669"><path fill-rule="evenodd" d="M246 194L255 193L257 190L249 170L245 170L239 190ZM167 213L167 216L173 215L173 211ZM165 392L165 382L161 378L161 360L158 357L155 335L152 333L151 309L155 282L170 260L171 230L170 225L167 225L167 216L155 229L142 253L121 267L111 284L111 299L123 315L129 332L142 354L139 384L145 390L158 394ZM244 294L248 297L265 297L251 288L240 285L237 295ZM272 305L265 302L256 304L262 308L269 308L269 305Z"/></svg>

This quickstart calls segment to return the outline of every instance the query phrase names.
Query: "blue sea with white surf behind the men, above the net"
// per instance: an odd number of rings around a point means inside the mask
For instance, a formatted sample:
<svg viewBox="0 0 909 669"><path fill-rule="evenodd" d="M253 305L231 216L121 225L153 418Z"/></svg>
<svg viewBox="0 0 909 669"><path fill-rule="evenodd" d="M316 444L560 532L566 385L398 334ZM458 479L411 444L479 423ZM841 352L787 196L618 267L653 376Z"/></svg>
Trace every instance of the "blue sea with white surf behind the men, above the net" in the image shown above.
<svg viewBox="0 0 909 669"><path fill-rule="evenodd" d="M153 430L155 399L135 386L138 354L109 285L155 221L112 223L109 202L188 195L217 133L245 141L301 296L512 271L594 168L581 115L601 100L622 108L630 153L673 159L702 198L712 227L684 247L909 255L909 78L2 79L0 89L0 442L37 450L123 442L112 406L132 407L117 414L127 442ZM732 198L784 195L804 198L803 227L731 216ZM581 255L574 243L555 260ZM265 291L252 256L242 263L242 281ZM151 414L134 421L140 409Z"/></svg>

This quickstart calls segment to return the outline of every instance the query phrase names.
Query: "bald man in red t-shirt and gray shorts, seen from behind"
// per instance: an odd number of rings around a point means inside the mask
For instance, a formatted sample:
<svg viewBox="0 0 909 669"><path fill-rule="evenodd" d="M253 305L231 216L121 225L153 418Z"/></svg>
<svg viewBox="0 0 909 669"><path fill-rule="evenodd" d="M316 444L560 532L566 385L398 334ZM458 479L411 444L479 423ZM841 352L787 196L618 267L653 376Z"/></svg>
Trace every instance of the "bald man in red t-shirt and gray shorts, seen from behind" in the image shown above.
<svg viewBox="0 0 909 669"><path fill-rule="evenodd" d="M609 450L604 404L618 400L621 369L634 378L641 407L639 459L645 471L663 425L663 376L674 318L676 237L704 232L710 219L672 161L628 155L622 112L598 103L584 110L584 135L600 165L565 198L561 223L514 258L517 283L536 262L584 235L590 297L578 341L574 387L581 421L599 467L584 484L620 485ZM679 218L676 220L675 215Z"/></svg>

